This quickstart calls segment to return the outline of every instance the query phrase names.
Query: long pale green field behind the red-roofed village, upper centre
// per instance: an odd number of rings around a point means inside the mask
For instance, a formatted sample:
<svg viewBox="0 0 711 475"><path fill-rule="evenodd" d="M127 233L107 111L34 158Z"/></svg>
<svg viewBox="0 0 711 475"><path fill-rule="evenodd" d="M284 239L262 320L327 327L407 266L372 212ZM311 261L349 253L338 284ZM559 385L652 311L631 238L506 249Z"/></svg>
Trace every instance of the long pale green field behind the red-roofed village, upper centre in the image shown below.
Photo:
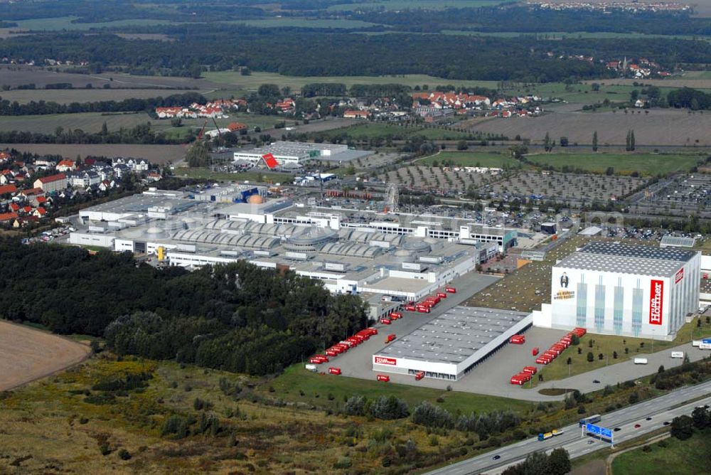
<svg viewBox="0 0 711 475"><path fill-rule="evenodd" d="M403 84L407 86L429 85L432 89L435 85L454 85L468 87L492 87L496 88L496 81L474 81L474 80L450 80L435 78L425 74L411 75L387 75L387 76L285 76L277 73L262 73L253 71L249 76L242 76L234 71L218 71L203 73L203 77L213 82L225 85L237 86L237 89L256 90L264 83L274 83L279 87L288 86L292 90L301 89L301 86L312 82L337 82L343 83L347 87L354 84Z"/></svg>

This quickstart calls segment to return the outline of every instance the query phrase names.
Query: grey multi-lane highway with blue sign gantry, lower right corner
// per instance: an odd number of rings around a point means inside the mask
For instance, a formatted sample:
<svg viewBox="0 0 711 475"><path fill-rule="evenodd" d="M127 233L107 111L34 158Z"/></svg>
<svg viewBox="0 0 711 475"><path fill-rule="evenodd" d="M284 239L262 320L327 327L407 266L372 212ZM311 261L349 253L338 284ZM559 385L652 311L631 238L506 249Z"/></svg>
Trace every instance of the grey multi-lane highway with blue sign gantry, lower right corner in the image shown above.
<svg viewBox="0 0 711 475"><path fill-rule="evenodd" d="M703 399L687 402L697 397L703 397ZM688 388L681 388L663 396L610 412L603 415L602 421L598 422L597 425L609 429L619 427L619 431L613 432L614 442L619 444L664 427L664 422L671 422L674 417L684 414L691 415L694 407L706 404L711 405L711 381ZM651 420L647 420L647 417L651 417ZM635 425L640 425L640 427L635 428ZM550 427L550 429L555 428ZM602 442L592 436L583 436L577 423L562 429L564 430L563 434L543 442L538 441L538 438L535 437L525 439L478 457L430 471L429 474L498 474L503 469L506 469L507 466L523 461L528 454L539 450L549 452L552 449L563 447L570 454L570 458L574 459L603 447L609 447L608 442ZM494 459L496 456L500 458Z"/></svg>

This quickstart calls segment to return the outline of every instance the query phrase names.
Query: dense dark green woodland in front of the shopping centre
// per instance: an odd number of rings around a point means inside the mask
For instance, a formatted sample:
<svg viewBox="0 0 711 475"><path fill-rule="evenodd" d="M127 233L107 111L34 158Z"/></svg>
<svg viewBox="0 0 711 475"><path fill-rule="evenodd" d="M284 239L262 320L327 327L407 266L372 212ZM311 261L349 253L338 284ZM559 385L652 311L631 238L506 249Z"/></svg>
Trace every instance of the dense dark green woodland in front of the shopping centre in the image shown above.
<svg viewBox="0 0 711 475"><path fill-rule="evenodd" d="M366 325L359 297L247 262L188 272L128 253L0 242L8 319L106 336L119 354L250 374L279 372Z"/></svg>

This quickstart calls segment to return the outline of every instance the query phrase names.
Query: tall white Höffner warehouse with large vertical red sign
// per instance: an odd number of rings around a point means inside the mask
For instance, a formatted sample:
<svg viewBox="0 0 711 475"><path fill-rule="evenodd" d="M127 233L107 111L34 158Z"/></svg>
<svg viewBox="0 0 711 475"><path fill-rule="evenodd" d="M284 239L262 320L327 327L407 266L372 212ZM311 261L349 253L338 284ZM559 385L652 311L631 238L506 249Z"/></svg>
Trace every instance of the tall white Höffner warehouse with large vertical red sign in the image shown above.
<svg viewBox="0 0 711 475"><path fill-rule="evenodd" d="M590 242L552 268L535 324L672 339L699 304L700 252Z"/></svg>

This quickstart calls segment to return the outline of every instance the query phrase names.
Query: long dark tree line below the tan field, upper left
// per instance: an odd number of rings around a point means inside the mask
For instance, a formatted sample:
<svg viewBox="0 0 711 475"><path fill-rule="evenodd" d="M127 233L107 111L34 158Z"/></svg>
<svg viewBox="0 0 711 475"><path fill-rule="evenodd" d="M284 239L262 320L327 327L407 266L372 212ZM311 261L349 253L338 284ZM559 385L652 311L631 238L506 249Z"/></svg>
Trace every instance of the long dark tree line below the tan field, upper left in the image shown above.
<svg viewBox="0 0 711 475"><path fill-rule="evenodd" d="M70 102L58 104L53 101L30 101L20 104L0 97L0 115L41 115L41 114L77 114L79 112L151 112L156 107L186 107L193 102L205 104L207 99L198 92L185 92L167 97L149 99L129 98L120 101L107 100L95 102Z"/></svg>

